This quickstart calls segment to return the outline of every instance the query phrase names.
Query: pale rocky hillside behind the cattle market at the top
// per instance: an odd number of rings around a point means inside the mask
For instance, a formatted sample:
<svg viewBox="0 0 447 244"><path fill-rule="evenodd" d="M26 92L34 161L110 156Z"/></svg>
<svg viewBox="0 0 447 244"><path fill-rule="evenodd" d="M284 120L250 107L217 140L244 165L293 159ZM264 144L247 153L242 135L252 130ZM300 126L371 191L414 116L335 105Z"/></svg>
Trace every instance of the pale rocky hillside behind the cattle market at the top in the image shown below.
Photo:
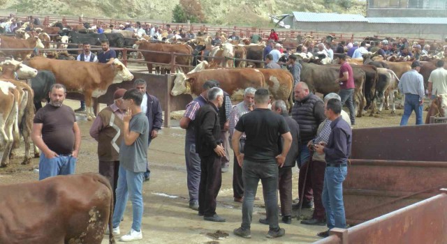
<svg viewBox="0 0 447 244"><path fill-rule="evenodd" d="M210 24L268 26L268 15L292 11L358 13L365 15L365 2L358 0L198 0ZM95 16L120 19L172 20L179 0L0 0L0 8L20 13Z"/></svg>

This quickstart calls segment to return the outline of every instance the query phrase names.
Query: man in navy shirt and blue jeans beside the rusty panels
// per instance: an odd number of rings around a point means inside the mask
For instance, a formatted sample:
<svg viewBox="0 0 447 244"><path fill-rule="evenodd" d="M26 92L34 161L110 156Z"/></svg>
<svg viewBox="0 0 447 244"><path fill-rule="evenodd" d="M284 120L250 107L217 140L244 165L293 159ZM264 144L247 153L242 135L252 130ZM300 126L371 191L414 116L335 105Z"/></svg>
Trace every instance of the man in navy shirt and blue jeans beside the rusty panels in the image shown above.
<svg viewBox="0 0 447 244"><path fill-rule="evenodd" d="M318 142L315 144L317 153L325 153L327 162L324 185L323 185L323 205L326 211L328 231L318 233L323 238L329 236L332 228L346 228L346 216L343 205L343 181L348 174L348 158L351 155L352 130L342 119L342 102L332 98L325 105L325 116L330 121L331 132L328 144Z"/></svg>

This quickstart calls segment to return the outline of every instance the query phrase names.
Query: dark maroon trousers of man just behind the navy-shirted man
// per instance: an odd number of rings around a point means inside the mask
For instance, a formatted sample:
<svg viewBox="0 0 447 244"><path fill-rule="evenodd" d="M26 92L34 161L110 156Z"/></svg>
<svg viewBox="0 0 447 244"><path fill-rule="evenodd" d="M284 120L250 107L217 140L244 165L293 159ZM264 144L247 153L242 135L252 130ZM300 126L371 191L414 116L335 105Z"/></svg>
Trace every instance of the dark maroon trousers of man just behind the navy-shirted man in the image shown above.
<svg viewBox="0 0 447 244"><path fill-rule="evenodd" d="M310 179L312 182L312 190L314 191L314 214L312 215L312 218L317 220L323 220L326 215L323 201L321 200L325 170L326 162L312 160L310 163Z"/></svg>

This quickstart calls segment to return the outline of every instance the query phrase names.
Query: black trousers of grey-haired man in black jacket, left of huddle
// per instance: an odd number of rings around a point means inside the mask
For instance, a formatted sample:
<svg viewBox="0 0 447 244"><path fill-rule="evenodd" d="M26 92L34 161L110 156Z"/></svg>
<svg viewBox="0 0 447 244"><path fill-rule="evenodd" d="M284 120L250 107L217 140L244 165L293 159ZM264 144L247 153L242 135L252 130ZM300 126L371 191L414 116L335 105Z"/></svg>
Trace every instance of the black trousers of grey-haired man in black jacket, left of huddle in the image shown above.
<svg viewBox="0 0 447 244"><path fill-rule="evenodd" d="M198 187L198 212L205 217L216 214L217 194L221 190L221 158L217 155L200 156L200 185Z"/></svg>

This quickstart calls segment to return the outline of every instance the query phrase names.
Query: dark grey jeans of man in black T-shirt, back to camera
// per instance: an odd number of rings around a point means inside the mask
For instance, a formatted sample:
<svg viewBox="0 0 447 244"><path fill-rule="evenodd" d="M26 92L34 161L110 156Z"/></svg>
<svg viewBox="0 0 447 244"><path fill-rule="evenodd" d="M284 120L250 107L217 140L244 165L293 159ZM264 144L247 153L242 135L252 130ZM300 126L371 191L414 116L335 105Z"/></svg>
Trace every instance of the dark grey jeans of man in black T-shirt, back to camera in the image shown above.
<svg viewBox="0 0 447 244"><path fill-rule="evenodd" d="M250 229L254 197L256 197L256 190L258 190L258 183L261 179L270 229L278 229L278 165L276 160L272 159L272 162L244 160L242 176L244 177L244 200L242 202L241 227Z"/></svg>

